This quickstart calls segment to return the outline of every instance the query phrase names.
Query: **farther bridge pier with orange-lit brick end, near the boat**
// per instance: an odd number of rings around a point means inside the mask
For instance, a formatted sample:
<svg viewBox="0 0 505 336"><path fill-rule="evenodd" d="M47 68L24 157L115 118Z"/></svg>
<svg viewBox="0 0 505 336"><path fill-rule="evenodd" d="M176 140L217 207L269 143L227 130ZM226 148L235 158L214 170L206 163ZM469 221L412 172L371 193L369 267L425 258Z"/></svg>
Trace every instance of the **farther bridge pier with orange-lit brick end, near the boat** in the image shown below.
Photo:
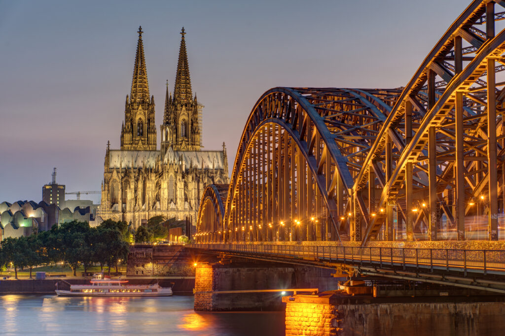
<svg viewBox="0 0 505 336"><path fill-rule="evenodd" d="M282 311L282 289L337 288L332 270L247 260L196 266L194 310L199 311ZM277 292L262 292L279 290ZM233 292L233 293L230 293Z"/></svg>

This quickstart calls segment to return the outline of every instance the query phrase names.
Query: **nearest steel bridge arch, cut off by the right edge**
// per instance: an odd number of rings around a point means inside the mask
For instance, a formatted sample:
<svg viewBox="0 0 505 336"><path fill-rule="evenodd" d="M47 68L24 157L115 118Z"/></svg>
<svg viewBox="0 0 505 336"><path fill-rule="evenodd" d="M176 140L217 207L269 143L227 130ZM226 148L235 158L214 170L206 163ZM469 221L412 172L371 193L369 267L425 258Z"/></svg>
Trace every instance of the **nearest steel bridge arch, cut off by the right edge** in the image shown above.
<svg viewBox="0 0 505 336"><path fill-rule="evenodd" d="M470 4L385 121L354 185L358 198L372 195L370 213L358 214L366 227L363 243L497 239L498 205L503 213L498 192L505 192L499 74L505 70L505 30L495 30L505 2L495 3Z"/></svg>

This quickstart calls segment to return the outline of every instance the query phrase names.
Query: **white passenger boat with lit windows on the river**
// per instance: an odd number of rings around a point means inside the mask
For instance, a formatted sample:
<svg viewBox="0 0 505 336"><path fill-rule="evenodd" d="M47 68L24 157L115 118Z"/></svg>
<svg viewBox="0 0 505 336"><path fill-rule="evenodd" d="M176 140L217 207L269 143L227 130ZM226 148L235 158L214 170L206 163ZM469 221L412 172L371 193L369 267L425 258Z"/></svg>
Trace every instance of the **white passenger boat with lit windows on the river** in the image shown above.
<svg viewBox="0 0 505 336"><path fill-rule="evenodd" d="M112 280L101 273L95 273L89 285L71 285L70 290L60 290L59 296L171 296L171 287L154 285L127 285L128 280Z"/></svg>

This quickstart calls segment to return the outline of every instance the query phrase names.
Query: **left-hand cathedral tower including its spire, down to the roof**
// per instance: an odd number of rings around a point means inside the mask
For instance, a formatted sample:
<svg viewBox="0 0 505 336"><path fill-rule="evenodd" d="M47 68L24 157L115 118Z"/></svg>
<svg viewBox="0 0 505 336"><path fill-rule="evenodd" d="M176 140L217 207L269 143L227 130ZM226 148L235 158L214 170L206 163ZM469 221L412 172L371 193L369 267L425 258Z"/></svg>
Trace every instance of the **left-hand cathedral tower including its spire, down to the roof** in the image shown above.
<svg viewBox="0 0 505 336"><path fill-rule="evenodd" d="M121 126L121 149L156 151L155 101L154 96L149 97L142 33L139 27L131 93L129 98L126 96L125 120Z"/></svg>

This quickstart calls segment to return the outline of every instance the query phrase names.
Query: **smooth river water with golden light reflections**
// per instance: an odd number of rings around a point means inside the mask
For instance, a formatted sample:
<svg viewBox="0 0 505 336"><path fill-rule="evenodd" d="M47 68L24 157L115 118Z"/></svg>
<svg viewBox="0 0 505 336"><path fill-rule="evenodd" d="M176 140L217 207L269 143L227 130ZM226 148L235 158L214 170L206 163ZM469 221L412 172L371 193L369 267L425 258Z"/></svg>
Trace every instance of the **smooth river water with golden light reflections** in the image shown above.
<svg viewBox="0 0 505 336"><path fill-rule="evenodd" d="M284 312L193 311L192 296L0 296L2 335L284 335Z"/></svg>

